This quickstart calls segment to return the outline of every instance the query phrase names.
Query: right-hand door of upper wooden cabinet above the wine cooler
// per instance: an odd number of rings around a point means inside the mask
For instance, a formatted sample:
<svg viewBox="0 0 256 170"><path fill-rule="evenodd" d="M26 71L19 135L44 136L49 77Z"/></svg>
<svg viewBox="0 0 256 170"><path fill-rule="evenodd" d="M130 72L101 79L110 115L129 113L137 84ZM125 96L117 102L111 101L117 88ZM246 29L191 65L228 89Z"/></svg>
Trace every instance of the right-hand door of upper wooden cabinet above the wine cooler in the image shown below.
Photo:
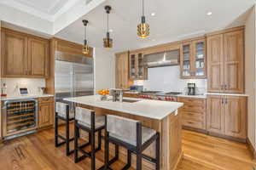
<svg viewBox="0 0 256 170"><path fill-rule="evenodd" d="M48 76L49 42L29 37L29 73L33 77Z"/></svg>

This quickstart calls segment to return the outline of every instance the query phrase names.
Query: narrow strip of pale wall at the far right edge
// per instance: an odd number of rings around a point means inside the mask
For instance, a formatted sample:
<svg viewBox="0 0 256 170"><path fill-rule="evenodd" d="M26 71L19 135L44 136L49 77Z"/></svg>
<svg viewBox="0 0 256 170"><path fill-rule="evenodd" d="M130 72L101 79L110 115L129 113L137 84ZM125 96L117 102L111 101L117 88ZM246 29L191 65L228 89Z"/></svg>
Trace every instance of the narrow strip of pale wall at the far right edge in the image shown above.
<svg viewBox="0 0 256 170"><path fill-rule="evenodd" d="M255 7L247 16L245 30L245 87L247 100L247 135L255 148Z"/></svg>

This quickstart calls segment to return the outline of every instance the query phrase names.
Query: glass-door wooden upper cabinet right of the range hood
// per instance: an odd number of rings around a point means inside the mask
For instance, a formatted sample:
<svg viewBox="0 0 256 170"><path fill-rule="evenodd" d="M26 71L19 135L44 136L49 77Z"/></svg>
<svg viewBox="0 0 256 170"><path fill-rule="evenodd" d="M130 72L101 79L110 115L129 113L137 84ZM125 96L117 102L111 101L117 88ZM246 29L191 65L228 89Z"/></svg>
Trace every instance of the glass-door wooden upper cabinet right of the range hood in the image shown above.
<svg viewBox="0 0 256 170"><path fill-rule="evenodd" d="M181 78L206 78L205 38L184 41L180 50Z"/></svg>

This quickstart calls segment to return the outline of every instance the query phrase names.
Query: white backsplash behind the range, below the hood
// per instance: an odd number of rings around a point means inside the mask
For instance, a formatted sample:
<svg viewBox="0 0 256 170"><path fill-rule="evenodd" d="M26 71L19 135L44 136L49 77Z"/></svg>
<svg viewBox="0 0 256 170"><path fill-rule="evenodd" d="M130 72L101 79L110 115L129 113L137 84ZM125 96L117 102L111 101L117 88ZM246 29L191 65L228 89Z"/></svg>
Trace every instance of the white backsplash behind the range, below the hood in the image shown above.
<svg viewBox="0 0 256 170"><path fill-rule="evenodd" d="M181 79L179 65L148 68L148 80L136 81L135 84L143 85L147 90L186 92L188 82L195 82L199 93L207 92L206 79Z"/></svg>

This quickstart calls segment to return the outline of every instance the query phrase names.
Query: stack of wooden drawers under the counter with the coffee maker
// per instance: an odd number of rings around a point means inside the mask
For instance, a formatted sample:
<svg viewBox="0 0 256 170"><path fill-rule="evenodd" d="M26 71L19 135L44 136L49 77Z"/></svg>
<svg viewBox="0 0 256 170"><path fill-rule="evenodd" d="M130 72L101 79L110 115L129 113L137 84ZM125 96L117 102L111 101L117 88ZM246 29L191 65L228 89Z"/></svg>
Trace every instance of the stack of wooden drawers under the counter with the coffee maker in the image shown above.
<svg viewBox="0 0 256 170"><path fill-rule="evenodd" d="M206 130L206 99L181 98L178 102L184 105L179 110L183 116L183 127L192 127L196 129Z"/></svg>

